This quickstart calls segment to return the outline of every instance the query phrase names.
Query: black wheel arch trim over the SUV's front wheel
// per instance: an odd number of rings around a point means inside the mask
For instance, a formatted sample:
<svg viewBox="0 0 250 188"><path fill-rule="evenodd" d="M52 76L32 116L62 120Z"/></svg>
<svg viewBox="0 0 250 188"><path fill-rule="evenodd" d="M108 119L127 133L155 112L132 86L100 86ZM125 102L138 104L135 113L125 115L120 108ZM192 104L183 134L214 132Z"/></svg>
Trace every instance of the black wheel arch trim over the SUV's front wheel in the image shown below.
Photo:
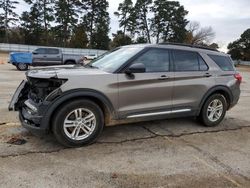
<svg viewBox="0 0 250 188"><path fill-rule="evenodd" d="M51 105L49 105L44 115L45 118L43 118L41 122L41 126L45 126L46 129L50 129L52 118L57 109L71 100L78 99L88 99L95 102L104 113L105 123L108 123L112 118L117 118L113 104L103 93L92 89L74 89L62 93Z"/></svg>

